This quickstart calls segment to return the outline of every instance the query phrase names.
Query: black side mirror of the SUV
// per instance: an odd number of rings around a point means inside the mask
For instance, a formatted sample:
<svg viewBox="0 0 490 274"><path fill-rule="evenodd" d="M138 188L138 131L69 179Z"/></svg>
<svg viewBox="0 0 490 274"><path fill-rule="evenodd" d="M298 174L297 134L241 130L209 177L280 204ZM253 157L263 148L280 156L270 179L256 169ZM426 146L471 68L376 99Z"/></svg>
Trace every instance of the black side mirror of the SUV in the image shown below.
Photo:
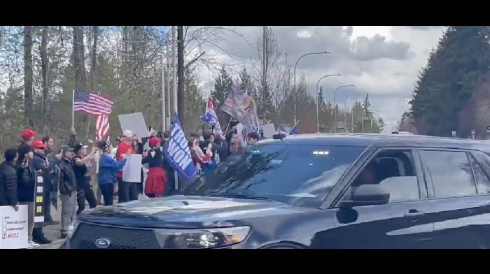
<svg viewBox="0 0 490 274"><path fill-rule="evenodd" d="M351 187L349 200L341 201L341 208L353 206L384 205L390 200L390 193L381 185L360 185Z"/></svg>

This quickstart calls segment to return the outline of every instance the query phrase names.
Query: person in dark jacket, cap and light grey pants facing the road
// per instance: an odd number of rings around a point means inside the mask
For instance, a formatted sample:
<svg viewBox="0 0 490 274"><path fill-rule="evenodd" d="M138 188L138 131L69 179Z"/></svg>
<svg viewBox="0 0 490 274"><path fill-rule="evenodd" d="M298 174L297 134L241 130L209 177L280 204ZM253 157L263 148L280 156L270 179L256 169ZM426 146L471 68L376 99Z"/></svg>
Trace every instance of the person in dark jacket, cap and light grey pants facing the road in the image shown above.
<svg viewBox="0 0 490 274"><path fill-rule="evenodd" d="M59 194L62 200L61 237L66 238L73 231L73 222L76 220L76 175L73 171L71 159L73 147L64 146L61 149L61 160L58 165L58 174L55 177L59 185Z"/></svg>

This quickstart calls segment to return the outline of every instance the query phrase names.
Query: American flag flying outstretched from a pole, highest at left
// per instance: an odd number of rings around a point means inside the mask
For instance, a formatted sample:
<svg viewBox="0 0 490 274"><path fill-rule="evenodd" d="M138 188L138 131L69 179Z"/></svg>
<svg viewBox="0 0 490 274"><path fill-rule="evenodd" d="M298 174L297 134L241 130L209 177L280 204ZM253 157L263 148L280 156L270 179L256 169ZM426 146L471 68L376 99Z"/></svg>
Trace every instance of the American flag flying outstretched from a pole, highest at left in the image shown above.
<svg viewBox="0 0 490 274"><path fill-rule="evenodd" d="M90 92L75 91L73 110L93 115L109 114L113 101Z"/></svg>

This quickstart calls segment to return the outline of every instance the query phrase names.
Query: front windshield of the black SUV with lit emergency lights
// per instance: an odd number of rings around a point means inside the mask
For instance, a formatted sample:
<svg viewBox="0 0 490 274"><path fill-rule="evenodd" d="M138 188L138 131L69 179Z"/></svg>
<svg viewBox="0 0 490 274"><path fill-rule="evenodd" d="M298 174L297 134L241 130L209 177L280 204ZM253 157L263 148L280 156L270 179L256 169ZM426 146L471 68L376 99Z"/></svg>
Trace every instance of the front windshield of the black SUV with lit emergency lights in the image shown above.
<svg viewBox="0 0 490 274"><path fill-rule="evenodd" d="M318 208L365 147L253 145L232 154L185 195L272 199Z"/></svg>

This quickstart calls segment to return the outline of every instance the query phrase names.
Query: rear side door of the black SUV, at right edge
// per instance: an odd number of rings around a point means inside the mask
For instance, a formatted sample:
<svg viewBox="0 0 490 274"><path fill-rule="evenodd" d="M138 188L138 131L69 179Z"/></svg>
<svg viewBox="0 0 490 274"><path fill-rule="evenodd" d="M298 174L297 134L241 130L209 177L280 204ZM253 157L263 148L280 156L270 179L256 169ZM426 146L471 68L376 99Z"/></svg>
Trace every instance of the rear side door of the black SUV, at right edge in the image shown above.
<svg viewBox="0 0 490 274"><path fill-rule="evenodd" d="M473 153L418 151L433 208L435 248L490 247L490 181Z"/></svg>

